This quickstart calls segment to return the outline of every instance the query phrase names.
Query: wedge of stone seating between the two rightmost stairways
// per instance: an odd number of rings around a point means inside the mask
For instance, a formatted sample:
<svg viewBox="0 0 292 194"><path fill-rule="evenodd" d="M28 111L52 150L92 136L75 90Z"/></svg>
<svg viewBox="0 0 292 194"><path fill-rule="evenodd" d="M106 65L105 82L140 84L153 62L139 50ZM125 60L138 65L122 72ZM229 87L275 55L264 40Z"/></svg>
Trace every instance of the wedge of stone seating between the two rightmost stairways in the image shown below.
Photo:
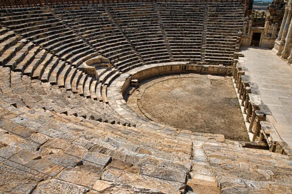
<svg viewBox="0 0 292 194"><path fill-rule="evenodd" d="M204 3L157 2L175 61L201 61Z"/></svg>

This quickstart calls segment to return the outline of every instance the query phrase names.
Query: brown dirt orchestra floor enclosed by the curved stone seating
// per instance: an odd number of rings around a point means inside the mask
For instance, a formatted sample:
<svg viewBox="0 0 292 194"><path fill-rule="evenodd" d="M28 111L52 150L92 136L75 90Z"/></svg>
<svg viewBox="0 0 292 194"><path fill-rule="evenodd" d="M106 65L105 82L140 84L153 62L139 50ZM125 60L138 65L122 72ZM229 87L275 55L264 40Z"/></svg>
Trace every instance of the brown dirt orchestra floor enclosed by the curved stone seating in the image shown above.
<svg viewBox="0 0 292 194"><path fill-rule="evenodd" d="M177 129L249 141L230 77L183 74L143 81L127 103L135 112Z"/></svg>

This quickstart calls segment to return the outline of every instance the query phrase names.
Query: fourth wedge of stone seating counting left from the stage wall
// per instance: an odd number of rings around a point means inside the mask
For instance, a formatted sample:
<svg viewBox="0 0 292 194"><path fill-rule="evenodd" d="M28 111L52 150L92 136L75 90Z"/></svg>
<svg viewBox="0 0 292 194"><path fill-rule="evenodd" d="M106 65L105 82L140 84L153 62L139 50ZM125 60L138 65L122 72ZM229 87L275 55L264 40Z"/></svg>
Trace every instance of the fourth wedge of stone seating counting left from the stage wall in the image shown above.
<svg viewBox="0 0 292 194"><path fill-rule="evenodd" d="M55 6L54 14L74 29L74 32L99 54L107 57L112 65L120 69L142 65L123 32L111 21L103 6ZM78 61L79 64L86 59Z"/></svg>

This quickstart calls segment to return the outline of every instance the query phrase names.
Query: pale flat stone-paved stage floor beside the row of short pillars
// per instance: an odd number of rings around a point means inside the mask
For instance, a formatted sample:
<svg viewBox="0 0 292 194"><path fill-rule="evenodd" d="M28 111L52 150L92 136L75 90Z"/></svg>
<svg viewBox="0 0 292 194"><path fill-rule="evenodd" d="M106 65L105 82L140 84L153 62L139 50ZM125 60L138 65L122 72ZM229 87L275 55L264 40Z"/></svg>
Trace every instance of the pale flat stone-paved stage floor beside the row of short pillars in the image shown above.
<svg viewBox="0 0 292 194"><path fill-rule="evenodd" d="M272 111L267 116L279 136L292 146L292 68L272 50L241 47L240 52L252 81L256 82L260 97Z"/></svg>

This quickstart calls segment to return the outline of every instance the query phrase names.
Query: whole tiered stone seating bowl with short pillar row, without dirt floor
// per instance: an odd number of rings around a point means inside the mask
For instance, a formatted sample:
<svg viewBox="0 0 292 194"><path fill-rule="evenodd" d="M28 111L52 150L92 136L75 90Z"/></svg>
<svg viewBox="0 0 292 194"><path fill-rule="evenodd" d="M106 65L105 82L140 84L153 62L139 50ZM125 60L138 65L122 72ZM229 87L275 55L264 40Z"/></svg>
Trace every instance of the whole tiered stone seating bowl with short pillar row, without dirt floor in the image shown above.
<svg viewBox="0 0 292 194"><path fill-rule="evenodd" d="M241 0L0 9L0 193L292 193L291 148L237 60L243 12ZM127 105L129 85L172 73L233 75L256 141Z"/></svg>

